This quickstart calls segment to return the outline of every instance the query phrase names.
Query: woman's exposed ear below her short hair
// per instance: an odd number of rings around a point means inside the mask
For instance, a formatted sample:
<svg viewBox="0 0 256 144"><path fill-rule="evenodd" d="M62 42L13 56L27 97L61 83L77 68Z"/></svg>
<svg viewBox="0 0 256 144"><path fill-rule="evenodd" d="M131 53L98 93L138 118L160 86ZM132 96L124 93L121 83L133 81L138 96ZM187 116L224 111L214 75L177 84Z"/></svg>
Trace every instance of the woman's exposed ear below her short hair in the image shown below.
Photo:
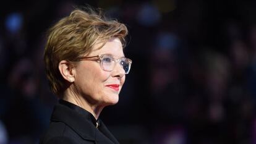
<svg viewBox="0 0 256 144"><path fill-rule="evenodd" d="M59 72L61 73L62 77L69 81L69 82L74 82L75 77L74 77L74 66L70 64L70 62L62 60L59 62Z"/></svg>

